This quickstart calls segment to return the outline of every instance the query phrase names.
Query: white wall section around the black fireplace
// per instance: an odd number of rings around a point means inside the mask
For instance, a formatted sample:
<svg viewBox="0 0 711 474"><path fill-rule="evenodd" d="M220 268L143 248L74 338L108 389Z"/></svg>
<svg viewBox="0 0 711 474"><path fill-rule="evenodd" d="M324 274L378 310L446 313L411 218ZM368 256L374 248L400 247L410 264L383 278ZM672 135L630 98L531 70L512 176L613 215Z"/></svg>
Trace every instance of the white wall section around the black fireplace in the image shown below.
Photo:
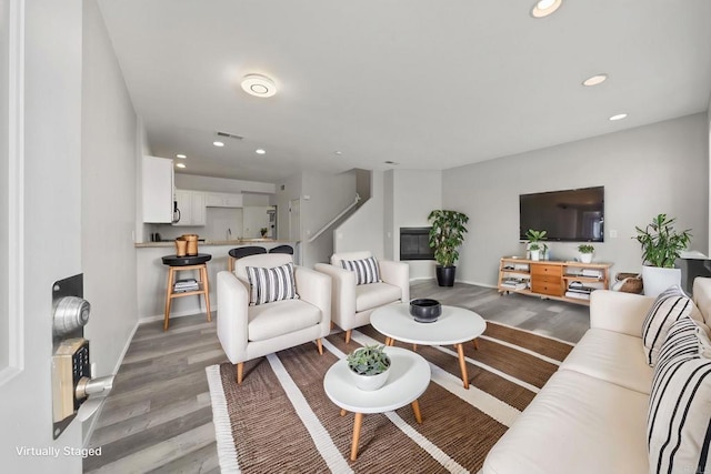
<svg viewBox="0 0 711 474"><path fill-rule="evenodd" d="M427 216L442 206L442 172L433 170L392 170L392 235L393 260L400 260L400 228L429 226ZM410 280L434 278L433 260L411 260Z"/></svg>

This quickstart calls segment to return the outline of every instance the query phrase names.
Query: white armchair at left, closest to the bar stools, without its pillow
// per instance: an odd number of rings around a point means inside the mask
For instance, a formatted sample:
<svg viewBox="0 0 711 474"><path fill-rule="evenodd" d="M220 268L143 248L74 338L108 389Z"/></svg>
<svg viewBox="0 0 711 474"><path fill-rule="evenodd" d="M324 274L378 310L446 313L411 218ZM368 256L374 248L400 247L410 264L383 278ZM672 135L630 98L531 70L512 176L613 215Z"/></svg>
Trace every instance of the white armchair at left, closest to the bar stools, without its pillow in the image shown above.
<svg viewBox="0 0 711 474"><path fill-rule="evenodd" d="M292 262L288 254L261 254L239 259L234 272L218 273L218 339L231 363L237 383L242 383L244 362L277 351L316 341L331 327L331 279L313 270L294 266L299 299L250 306L247 266L273 269Z"/></svg>

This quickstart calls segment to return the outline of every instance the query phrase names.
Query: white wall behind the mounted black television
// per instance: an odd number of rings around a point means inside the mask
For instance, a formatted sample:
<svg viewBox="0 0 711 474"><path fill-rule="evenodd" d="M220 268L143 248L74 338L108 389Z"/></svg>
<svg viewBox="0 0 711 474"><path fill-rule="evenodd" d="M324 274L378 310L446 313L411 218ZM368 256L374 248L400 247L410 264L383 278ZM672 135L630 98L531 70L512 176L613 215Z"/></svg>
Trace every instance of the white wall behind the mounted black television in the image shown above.
<svg viewBox="0 0 711 474"><path fill-rule="evenodd" d="M523 254L519 194L538 191L605 186L605 241L595 244L595 260L614 263L613 273L641 270L641 250L631 238L635 225L658 213L691 228L692 250L707 253L708 147L701 113L444 171L442 205L470 218L458 280L493 285L499 259ZM575 256L573 243L550 248L553 259Z"/></svg>

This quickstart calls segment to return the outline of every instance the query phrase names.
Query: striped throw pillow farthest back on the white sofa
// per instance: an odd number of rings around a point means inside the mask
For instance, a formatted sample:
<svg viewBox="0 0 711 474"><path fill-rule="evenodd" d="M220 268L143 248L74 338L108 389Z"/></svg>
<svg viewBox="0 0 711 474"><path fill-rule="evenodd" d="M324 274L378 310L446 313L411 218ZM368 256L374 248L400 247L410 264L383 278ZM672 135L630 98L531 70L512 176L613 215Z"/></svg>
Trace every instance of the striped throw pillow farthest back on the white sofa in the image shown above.
<svg viewBox="0 0 711 474"><path fill-rule="evenodd" d="M644 356L650 366L653 367L657 364L659 350L664 343L672 324L684 316L691 315L693 309L693 302L678 285L670 286L657 296L657 301L654 301L642 324Z"/></svg>

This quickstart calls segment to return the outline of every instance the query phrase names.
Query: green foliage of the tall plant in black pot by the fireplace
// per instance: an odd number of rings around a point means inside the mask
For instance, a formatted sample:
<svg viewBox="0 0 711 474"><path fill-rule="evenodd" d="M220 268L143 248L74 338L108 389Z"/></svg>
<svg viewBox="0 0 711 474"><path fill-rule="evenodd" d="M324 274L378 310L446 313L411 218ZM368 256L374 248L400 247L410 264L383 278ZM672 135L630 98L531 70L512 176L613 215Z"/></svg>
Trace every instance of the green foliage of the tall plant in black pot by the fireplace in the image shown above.
<svg viewBox="0 0 711 474"><path fill-rule="evenodd" d="M469 218L461 212L437 209L427 219L432 223L429 244L434 249L434 260L441 266L453 266L459 260Z"/></svg>

